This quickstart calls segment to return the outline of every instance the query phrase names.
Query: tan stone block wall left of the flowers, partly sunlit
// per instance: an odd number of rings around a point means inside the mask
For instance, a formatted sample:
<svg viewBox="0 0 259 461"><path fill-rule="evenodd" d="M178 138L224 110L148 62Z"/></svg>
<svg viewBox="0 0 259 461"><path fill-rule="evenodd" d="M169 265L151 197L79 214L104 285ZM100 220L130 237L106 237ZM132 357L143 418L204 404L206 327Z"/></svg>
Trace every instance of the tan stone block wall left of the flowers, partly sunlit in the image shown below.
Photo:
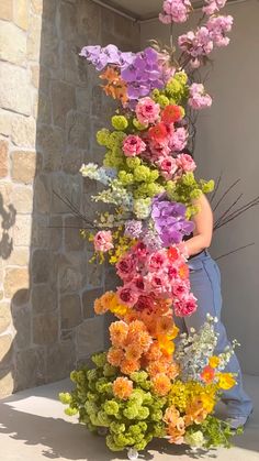
<svg viewBox="0 0 259 461"><path fill-rule="evenodd" d="M83 227L112 105L78 56L86 44L138 50L139 30L90 0L0 2L0 395L63 378L103 347L92 304L113 276L89 264Z"/></svg>

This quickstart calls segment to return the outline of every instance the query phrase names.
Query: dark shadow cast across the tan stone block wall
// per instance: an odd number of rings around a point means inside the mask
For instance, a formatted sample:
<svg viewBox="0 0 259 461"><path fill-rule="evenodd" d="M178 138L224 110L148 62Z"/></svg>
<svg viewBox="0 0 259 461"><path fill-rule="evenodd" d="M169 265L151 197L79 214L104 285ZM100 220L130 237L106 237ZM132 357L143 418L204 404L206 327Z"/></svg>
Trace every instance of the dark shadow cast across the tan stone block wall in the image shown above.
<svg viewBox="0 0 259 461"><path fill-rule="evenodd" d="M40 25L41 18L33 17L33 28ZM82 182L78 171L83 162L102 158L94 133L106 124L114 105L78 52L86 44L111 42L138 50L138 37L137 25L90 0L43 0L40 56L35 42L29 62L38 92L33 211L27 215L31 223L24 220L31 232L30 267L29 276L26 268L11 270L24 289L12 289L14 329L5 334L0 365L3 395L11 392L12 381L16 392L61 380L104 347L104 319L95 317L92 307L114 283L114 274L88 263L92 248L79 235L83 222L53 190L93 218L90 197L97 186ZM12 243L8 237L15 210L5 211L0 202L0 213L7 227L1 252L8 257L12 244L15 248L15 239ZM21 226L20 241L27 228Z"/></svg>

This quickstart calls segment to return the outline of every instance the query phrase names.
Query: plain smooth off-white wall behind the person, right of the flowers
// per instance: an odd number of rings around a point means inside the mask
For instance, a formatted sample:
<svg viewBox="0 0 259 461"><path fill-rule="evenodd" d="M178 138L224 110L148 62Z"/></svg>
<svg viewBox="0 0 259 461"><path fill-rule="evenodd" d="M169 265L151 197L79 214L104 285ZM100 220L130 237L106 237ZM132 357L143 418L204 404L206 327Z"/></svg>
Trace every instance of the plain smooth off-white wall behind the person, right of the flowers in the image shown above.
<svg viewBox="0 0 259 461"><path fill-rule="evenodd" d="M215 99L212 108L201 113L195 158L202 177L216 178L224 172L223 189L240 177L236 194L243 191L249 200L259 195L259 1L233 4L225 12L234 17L235 26L230 45L213 56L206 88ZM196 14L193 19L196 21ZM176 33L183 31L187 24ZM165 42L168 36L168 28L158 21L142 26L143 46L148 39ZM259 374L259 207L218 230L212 254L219 256L254 241L255 246L218 263L228 336L241 342L243 370Z"/></svg>

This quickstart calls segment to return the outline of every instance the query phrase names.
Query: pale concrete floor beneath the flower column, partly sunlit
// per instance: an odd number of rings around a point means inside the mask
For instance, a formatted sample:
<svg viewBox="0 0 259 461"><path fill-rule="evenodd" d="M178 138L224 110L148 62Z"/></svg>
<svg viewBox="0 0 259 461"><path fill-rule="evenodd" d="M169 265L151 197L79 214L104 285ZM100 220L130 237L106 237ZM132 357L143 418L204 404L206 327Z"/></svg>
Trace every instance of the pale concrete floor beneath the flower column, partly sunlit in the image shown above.
<svg viewBox="0 0 259 461"><path fill-rule="evenodd" d="M192 457L179 447L161 440L149 446L139 459L187 461L259 461L259 376L245 376L247 392L255 402L255 411L245 433L235 440L230 450L211 451ZM103 439L89 435L77 419L64 415L57 394L69 387L69 381L18 393L0 402L0 460L1 461L115 461L125 460L105 448Z"/></svg>

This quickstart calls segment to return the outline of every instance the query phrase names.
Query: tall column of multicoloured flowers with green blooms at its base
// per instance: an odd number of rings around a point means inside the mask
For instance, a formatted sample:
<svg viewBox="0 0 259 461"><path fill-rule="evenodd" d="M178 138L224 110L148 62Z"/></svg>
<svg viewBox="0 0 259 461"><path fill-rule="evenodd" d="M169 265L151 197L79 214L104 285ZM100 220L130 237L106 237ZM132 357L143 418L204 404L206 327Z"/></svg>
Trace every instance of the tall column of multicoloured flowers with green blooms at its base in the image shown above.
<svg viewBox="0 0 259 461"><path fill-rule="evenodd" d="M233 347L217 355L216 319L181 334L174 316L191 316L184 238L194 230L195 200L214 182L198 180L188 153L188 111L212 105L193 72L215 47L226 46L233 18L219 15L225 0L205 0L195 30L179 36L180 55L157 45L123 53L115 45L85 46L80 55L101 73L106 95L120 101L110 129L97 133L103 164L82 165L82 176L101 183L92 199L109 205L90 234L94 257L114 265L122 281L94 303L111 311L111 347L92 356L95 367L71 373L76 388L60 394L68 415L105 435L112 451L144 450L153 438L210 449L229 447L229 426L214 416L222 389L236 384L224 372ZM189 0L166 0L160 20L185 22ZM111 208L113 207L113 208ZM134 451L135 450L135 451ZM136 454L137 455L137 454Z"/></svg>

